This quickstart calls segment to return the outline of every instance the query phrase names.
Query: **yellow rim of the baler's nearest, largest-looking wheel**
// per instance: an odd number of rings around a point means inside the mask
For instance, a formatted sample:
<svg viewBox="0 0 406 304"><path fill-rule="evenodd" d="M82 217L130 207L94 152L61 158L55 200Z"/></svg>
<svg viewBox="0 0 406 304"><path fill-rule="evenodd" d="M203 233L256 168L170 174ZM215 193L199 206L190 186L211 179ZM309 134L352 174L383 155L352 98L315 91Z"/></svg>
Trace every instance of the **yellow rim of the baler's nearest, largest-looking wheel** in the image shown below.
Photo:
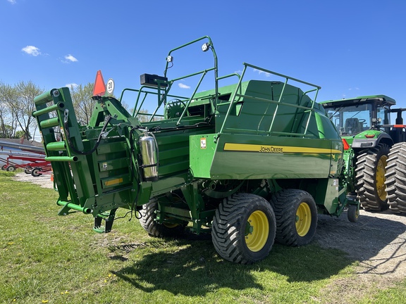
<svg viewBox="0 0 406 304"><path fill-rule="evenodd" d="M264 248L269 236L268 217L262 211L251 213L245 228L245 243L248 249L253 252Z"/></svg>

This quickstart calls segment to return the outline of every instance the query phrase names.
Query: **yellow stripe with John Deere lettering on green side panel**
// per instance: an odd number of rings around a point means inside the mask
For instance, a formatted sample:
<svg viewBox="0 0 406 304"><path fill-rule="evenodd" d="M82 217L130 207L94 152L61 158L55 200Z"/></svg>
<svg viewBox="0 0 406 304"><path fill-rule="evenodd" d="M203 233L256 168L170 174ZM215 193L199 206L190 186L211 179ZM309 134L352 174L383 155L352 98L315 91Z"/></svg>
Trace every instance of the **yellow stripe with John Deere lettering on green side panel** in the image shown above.
<svg viewBox="0 0 406 304"><path fill-rule="evenodd" d="M298 146L267 146L257 144L224 144L224 151L244 151L263 153L343 153L340 150L329 148L306 148Z"/></svg>

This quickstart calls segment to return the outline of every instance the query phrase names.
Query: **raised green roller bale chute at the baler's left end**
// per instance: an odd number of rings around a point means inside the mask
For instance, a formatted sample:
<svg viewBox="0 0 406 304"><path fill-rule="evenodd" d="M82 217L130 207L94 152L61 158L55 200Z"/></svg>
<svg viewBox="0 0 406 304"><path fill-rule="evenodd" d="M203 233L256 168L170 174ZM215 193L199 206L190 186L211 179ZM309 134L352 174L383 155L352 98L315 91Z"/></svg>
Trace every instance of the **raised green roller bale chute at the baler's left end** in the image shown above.
<svg viewBox="0 0 406 304"><path fill-rule="evenodd" d="M59 215L68 214L70 209L93 213L94 182L87 156L75 152L83 151L84 146L69 89L51 89L37 96L34 102L37 110L32 115L37 119L42 134L47 156L45 160L51 161L54 170L54 181L59 191L57 204L63 207ZM57 127L63 141L57 140ZM112 222L114 213L115 210L111 210L110 215L94 215L94 228L101 229L101 217L104 217L106 231L97 231L108 232L107 222Z"/></svg>

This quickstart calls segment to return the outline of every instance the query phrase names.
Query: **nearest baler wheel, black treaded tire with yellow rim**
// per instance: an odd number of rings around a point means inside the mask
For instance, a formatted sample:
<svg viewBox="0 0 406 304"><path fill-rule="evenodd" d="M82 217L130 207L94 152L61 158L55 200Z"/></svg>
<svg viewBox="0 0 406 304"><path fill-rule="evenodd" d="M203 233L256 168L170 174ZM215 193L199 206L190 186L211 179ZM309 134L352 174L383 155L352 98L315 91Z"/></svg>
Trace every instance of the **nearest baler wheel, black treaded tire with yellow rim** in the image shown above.
<svg viewBox="0 0 406 304"><path fill-rule="evenodd" d="M261 196L235 194L216 209L211 239L221 258L240 264L264 260L275 241L272 206Z"/></svg>

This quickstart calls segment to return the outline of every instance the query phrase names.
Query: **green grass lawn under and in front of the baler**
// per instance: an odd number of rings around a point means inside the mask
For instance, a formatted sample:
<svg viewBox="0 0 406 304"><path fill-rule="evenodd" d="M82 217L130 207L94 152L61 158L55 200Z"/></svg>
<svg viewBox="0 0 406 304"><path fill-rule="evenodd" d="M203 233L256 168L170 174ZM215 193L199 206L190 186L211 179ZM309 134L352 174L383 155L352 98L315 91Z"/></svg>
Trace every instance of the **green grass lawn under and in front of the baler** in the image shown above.
<svg viewBox="0 0 406 304"><path fill-rule="evenodd" d="M135 218L96 234L89 215L56 215L54 190L10 175L0 172L2 303L331 303L328 286L355 278L356 261L316 244L275 244L264 261L236 265L209 236L155 239ZM405 297L406 281L358 300Z"/></svg>

